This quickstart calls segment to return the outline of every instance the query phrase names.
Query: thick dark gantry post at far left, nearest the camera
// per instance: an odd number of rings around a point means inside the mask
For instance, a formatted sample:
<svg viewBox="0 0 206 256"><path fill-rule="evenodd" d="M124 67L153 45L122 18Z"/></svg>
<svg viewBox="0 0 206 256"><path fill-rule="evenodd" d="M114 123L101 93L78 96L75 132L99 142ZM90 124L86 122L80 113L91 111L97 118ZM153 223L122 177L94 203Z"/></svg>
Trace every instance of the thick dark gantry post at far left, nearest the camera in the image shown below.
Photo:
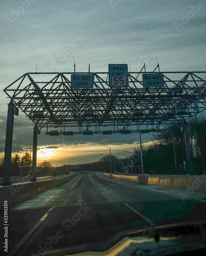
<svg viewBox="0 0 206 256"><path fill-rule="evenodd" d="M10 171L11 171L13 126L14 126L14 103L11 100L10 103L8 104L8 113L7 113L7 131L6 131L6 141L5 141L3 182L2 182L3 186L8 186L12 184L10 182Z"/></svg>

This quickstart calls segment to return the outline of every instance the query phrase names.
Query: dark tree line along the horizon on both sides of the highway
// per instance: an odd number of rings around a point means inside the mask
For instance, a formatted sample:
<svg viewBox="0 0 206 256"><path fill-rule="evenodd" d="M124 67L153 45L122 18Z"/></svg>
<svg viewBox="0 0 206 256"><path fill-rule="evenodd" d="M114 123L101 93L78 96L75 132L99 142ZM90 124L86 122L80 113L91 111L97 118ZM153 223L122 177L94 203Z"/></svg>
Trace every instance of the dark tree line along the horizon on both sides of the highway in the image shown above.
<svg viewBox="0 0 206 256"><path fill-rule="evenodd" d="M193 159L194 173L205 174L206 170L206 118L202 115L193 117L188 121L190 131L190 146ZM187 156L185 148L184 132L181 129L182 123L165 126L165 131L153 135L153 141L149 146L142 146L144 173L146 174L187 174ZM3 153L0 152L0 171L4 162ZM12 157L11 175L17 176L19 173L28 172L31 167L31 154L25 153L20 158L18 154ZM106 155L96 162L80 164L81 170L94 170L112 173L142 173L141 148L139 145L133 147L132 163L130 156L118 158ZM49 161L40 164L41 174L47 175L48 168L52 167ZM58 174L66 174L70 170L70 165L57 167Z"/></svg>

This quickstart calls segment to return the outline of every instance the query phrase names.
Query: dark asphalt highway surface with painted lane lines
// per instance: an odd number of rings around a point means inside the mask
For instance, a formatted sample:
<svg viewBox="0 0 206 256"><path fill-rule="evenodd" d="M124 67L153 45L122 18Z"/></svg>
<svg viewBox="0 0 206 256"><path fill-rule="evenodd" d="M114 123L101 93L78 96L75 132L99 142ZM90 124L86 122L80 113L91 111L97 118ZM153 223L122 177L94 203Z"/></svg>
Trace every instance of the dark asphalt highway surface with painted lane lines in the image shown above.
<svg viewBox="0 0 206 256"><path fill-rule="evenodd" d="M160 224L206 221L205 212L204 192L85 172L9 210L7 255L105 249L123 231L146 228L150 233Z"/></svg>

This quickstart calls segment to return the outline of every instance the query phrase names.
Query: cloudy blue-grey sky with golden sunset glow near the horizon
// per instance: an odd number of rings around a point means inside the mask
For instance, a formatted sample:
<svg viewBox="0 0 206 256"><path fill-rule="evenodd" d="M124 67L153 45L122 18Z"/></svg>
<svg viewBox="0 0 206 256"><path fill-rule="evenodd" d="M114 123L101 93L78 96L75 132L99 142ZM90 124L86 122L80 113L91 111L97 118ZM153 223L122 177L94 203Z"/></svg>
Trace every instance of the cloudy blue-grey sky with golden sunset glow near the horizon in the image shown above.
<svg viewBox="0 0 206 256"><path fill-rule="evenodd" d="M22 0L1 1L0 151L4 152L9 99L3 90L27 72L108 72L127 63L138 72L205 71L206 1L203 0ZM77 43L78 42L78 43ZM43 131L44 132L44 131ZM38 136L37 164L97 161L109 153L126 157L139 134ZM72 138L71 138L72 137ZM33 124L14 118L12 152L32 148ZM143 143L153 137L143 135Z"/></svg>

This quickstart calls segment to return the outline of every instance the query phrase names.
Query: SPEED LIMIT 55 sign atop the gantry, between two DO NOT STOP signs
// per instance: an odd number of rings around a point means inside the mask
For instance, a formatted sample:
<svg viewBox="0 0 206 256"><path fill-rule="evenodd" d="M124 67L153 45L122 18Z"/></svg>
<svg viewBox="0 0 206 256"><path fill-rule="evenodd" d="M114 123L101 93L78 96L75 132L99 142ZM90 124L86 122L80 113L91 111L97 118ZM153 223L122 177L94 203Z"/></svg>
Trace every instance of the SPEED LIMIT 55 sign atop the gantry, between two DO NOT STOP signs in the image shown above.
<svg viewBox="0 0 206 256"><path fill-rule="evenodd" d="M128 87L127 64L109 64L109 87Z"/></svg>

